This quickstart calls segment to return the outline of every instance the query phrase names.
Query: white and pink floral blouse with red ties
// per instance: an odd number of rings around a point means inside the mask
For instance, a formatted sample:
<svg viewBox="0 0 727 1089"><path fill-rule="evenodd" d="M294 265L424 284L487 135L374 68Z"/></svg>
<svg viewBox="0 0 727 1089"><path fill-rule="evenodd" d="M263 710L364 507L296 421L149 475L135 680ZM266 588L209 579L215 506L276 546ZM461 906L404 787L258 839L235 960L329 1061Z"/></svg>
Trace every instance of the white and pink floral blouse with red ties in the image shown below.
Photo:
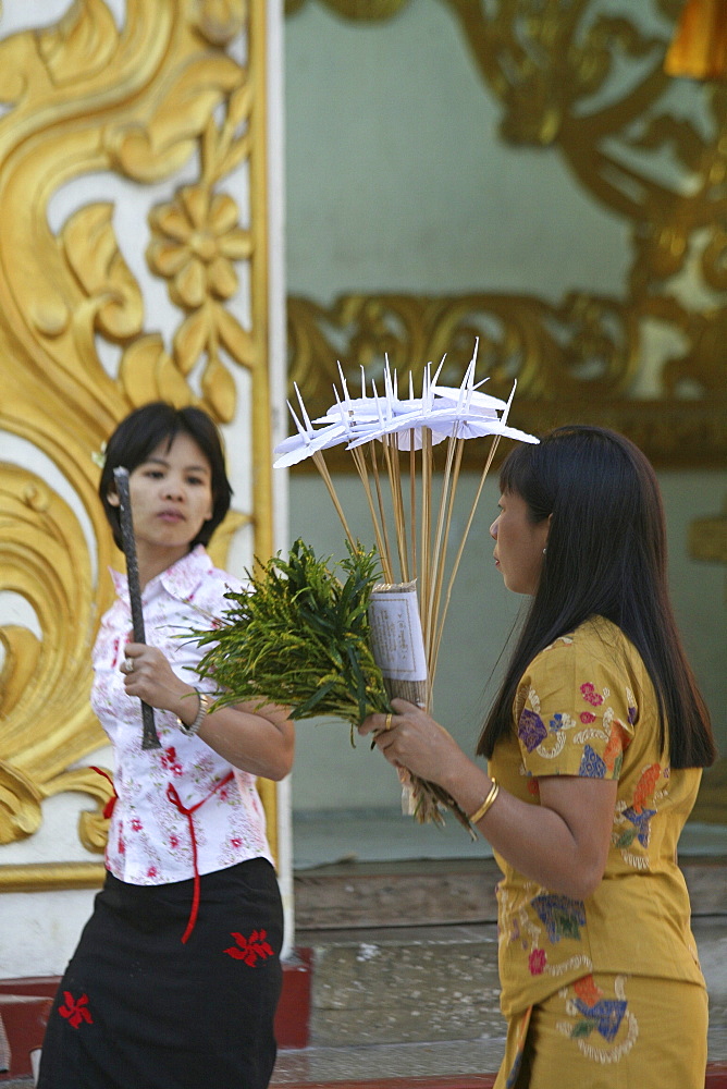
<svg viewBox="0 0 727 1089"><path fill-rule="evenodd" d="M195 842L199 874L259 856L272 860L255 775L232 768L200 737L188 737L171 711L155 711L161 749L141 748L140 703L126 695L119 669L133 638L127 583L118 572L111 575L116 600L94 647L91 690L91 706L115 755L108 869L131 884L183 881L195 873ZM210 688L195 673L201 651L185 632L212 627L229 605L225 592L241 588L212 566L201 546L145 587L147 643L188 684Z"/></svg>

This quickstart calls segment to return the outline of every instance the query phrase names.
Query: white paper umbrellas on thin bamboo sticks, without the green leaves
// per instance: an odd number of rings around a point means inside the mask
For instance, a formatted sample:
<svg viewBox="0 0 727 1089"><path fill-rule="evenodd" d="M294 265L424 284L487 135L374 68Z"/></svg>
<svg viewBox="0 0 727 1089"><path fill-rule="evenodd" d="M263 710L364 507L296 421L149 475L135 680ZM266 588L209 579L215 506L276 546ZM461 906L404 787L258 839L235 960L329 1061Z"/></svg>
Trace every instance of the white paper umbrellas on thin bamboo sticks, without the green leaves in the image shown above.
<svg viewBox="0 0 727 1089"><path fill-rule="evenodd" d="M477 347L476 342L475 354L459 388L438 386L444 360L433 377L431 365L428 365L420 397L414 395L411 376L408 396L398 396L396 372L391 370L389 360L383 371L383 394L378 393L373 381L372 392L368 394L362 375L361 396L353 397L338 365L341 393L334 388L335 404L324 416L311 423L296 387L299 416L288 403L296 433L275 449L279 455L274 463L276 467L294 465L308 456L313 458L334 501L348 541L354 544L324 457L324 450L334 445L345 443L350 451L364 486L384 580L390 584L410 579L417 582L430 689L436 671L452 587L497 443L503 436L522 442L538 441L533 436L507 425L515 384L508 401L480 392L481 382L476 386ZM490 452L466 523L465 535L447 578L447 544L464 443L469 438L488 435L492 436ZM446 449L444 469L438 475L433 448L441 442L446 442ZM399 452L404 451L408 452L408 510L399 456ZM393 512L391 534L384 512L382 477ZM434 499L435 481L440 485L439 502Z"/></svg>

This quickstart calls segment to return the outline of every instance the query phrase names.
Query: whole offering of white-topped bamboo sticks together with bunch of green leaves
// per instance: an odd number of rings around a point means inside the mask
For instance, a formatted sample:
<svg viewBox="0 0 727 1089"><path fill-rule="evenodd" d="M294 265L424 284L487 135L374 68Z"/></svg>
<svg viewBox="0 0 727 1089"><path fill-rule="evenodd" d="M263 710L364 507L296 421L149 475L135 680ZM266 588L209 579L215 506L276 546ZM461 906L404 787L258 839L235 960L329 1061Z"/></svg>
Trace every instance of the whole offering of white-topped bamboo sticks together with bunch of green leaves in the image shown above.
<svg viewBox="0 0 727 1089"><path fill-rule="evenodd" d="M250 576L249 595L230 595L236 604L226 620L196 633L210 645L200 670L215 678L222 702L267 697L293 706L294 718L334 714L352 723L352 737L355 724L371 711L389 710L395 696L431 709L452 589L497 442L503 436L538 441L507 424L515 386L508 401L476 386L476 359L477 343L454 389L438 384L444 360L433 376L428 365L419 397L411 376L408 396L399 397L389 360L383 393L373 381L369 393L361 371L361 396L353 397L338 365L335 403L312 421L296 387L298 403L288 403L296 432L275 448L274 464L312 458L347 538L349 556L340 565L346 577L337 578L296 541L286 561L275 558ZM447 563L464 443L488 435L492 443L465 534ZM440 473L433 448L442 442ZM340 444L350 452L364 488L375 541L370 552L354 538L325 463L324 451ZM419 821L441 823L448 809L469 829L441 787L406 772L401 778L405 809Z"/></svg>

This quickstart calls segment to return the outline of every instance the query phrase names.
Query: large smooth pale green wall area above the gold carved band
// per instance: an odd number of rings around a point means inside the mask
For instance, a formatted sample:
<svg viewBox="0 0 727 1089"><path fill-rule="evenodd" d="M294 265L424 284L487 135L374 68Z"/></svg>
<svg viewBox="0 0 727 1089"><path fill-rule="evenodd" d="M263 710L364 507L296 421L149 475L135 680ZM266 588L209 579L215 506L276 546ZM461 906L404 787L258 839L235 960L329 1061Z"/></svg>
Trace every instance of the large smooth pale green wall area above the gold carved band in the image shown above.
<svg viewBox="0 0 727 1089"><path fill-rule="evenodd" d="M557 150L497 139L500 107L439 0L371 25L309 3L286 20L285 64L292 294L619 291L623 221Z"/></svg>

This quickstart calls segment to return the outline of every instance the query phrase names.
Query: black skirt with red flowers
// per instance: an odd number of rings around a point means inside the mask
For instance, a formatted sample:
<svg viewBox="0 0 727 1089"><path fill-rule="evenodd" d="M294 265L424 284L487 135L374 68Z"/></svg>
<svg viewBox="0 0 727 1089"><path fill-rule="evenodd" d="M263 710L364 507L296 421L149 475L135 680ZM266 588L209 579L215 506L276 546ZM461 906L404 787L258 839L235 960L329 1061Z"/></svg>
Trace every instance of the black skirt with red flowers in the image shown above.
<svg viewBox="0 0 727 1089"><path fill-rule="evenodd" d="M283 910L270 862L194 882L107 874L59 987L38 1089L266 1089L275 1063Z"/></svg>

